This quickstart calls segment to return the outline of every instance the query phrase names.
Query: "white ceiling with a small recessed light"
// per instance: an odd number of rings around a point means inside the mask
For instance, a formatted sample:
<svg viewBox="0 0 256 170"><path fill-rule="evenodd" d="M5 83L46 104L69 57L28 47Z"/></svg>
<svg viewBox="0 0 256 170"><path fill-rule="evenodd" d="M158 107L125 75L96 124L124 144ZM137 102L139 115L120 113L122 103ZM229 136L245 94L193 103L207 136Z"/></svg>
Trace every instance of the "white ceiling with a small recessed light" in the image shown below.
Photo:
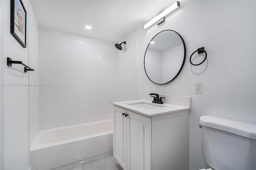
<svg viewBox="0 0 256 170"><path fill-rule="evenodd" d="M173 0L30 0L38 25L120 43ZM85 26L92 26L91 30Z"/></svg>

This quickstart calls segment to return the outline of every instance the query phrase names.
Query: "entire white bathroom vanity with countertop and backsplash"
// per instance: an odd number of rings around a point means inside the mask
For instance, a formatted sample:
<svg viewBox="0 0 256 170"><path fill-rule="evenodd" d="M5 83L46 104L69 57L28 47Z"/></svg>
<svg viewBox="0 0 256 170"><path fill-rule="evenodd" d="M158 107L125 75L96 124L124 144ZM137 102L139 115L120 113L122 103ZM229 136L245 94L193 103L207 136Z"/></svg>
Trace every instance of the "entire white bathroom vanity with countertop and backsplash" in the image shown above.
<svg viewBox="0 0 256 170"><path fill-rule="evenodd" d="M161 95L164 104L113 102L114 157L124 170L188 170L191 97Z"/></svg>

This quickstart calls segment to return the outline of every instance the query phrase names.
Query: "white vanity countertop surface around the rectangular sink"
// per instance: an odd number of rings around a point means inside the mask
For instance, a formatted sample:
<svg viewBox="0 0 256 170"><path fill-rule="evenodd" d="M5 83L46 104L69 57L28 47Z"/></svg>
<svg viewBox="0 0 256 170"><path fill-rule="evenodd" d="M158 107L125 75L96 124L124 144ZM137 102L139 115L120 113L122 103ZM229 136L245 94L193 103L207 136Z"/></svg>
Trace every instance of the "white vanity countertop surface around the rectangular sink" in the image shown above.
<svg viewBox="0 0 256 170"><path fill-rule="evenodd" d="M142 103L142 102L148 103L151 105L161 106L161 107L156 109L143 109L143 108L129 105L129 104ZM120 102L112 102L112 104L117 107L121 107L128 111L132 111L146 117L154 117L159 115L165 115L168 113L175 113L175 112L190 110L190 107L186 107L186 106L173 105L168 103L157 104L157 103L152 103L152 101L148 101L148 100L120 101Z"/></svg>

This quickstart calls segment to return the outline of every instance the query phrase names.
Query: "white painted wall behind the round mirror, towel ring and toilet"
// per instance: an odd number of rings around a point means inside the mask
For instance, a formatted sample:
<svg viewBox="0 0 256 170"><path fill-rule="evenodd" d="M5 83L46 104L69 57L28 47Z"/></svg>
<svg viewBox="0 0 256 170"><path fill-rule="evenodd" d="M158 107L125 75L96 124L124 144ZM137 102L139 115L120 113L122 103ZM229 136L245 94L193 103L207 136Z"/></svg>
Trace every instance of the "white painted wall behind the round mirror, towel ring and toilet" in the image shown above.
<svg viewBox="0 0 256 170"><path fill-rule="evenodd" d="M181 1L166 21L136 30L137 91L192 97L190 112L190 169L207 168L202 150L201 115L256 123L256 1ZM242 5L241 5L242 4ZM180 75L171 83L156 85L144 71L144 53L152 37L174 30L184 39L187 55ZM192 66L190 55L199 47L206 61ZM203 55L202 55L203 56ZM194 82L202 81L202 94Z"/></svg>

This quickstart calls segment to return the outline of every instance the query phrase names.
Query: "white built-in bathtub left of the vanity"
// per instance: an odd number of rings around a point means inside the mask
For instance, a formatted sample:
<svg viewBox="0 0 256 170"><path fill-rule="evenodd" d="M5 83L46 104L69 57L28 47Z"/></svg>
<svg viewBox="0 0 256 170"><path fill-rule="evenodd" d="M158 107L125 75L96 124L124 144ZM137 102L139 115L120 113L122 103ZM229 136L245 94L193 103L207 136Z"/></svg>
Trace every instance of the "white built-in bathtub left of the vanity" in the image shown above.
<svg viewBox="0 0 256 170"><path fill-rule="evenodd" d="M40 130L30 149L32 170L68 168L113 152L113 121Z"/></svg>

